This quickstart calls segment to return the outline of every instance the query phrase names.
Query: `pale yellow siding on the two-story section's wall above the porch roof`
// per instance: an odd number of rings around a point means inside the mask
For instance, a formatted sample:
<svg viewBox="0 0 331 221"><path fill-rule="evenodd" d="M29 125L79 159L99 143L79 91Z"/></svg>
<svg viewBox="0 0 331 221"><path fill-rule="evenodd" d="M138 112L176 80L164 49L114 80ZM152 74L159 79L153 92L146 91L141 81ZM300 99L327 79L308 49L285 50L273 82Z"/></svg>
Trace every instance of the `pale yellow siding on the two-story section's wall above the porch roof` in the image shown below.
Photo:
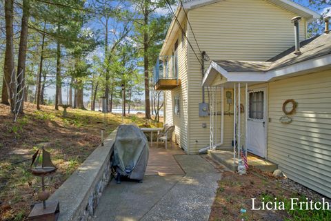
<svg viewBox="0 0 331 221"><path fill-rule="evenodd" d="M262 0L226 0L190 10L188 17L201 51L210 61L217 59L265 61L294 46L291 12ZM301 40L305 39L305 19L300 23ZM199 49L188 26L188 36L198 57ZM190 153L209 145L209 117L199 117L201 66L188 47L188 113ZM208 61L205 68L208 68ZM207 98L208 96L205 95ZM206 99L208 102L208 99ZM225 110L226 111L226 110ZM231 118L225 118L224 133L229 136L224 146L231 146ZM230 119L230 120L227 120ZM202 128L206 123L207 128ZM194 137L194 138L193 138Z"/></svg>

